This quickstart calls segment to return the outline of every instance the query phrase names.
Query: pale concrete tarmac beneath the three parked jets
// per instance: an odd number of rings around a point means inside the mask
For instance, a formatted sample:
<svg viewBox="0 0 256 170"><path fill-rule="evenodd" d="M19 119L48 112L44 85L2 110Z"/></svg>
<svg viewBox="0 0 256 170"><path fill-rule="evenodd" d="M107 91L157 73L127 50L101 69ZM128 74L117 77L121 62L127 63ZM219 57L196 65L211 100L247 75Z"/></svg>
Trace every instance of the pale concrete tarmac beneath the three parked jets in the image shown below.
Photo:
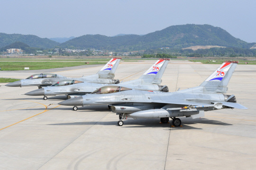
<svg viewBox="0 0 256 170"><path fill-rule="evenodd" d="M115 78L138 78L155 60L121 62ZM38 72L79 77L95 67L0 71L0 77L26 78ZM162 85L169 91L200 85L216 64L171 60ZM105 105L79 107L56 103L65 96L27 96L37 87L0 84L1 170L252 170L256 167L256 65L238 65L227 94L248 110L205 112L181 118L182 127L159 119L125 120ZM48 106L49 104L52 104ZM48 106L48 107L47 107Z"/></svg>

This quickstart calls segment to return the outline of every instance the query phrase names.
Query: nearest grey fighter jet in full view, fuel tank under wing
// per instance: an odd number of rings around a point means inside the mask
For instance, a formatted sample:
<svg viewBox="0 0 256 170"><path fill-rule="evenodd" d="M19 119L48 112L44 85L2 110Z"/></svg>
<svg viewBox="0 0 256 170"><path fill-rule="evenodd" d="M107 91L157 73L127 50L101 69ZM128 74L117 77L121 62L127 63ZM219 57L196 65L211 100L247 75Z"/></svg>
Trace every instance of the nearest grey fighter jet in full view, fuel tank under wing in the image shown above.
<svg viewBox="0 0 256 170"><path fill-rule="evenodd" d="M117 87L114 92L103 94L98 91L60 102L61 105L100 105L109 104L122 119L160 118L162 123L173 119L175 127L181 125L177 117L203 117L204 111L218 109L247 109L238 104L235 95L227 95L229 80L238 61L225 61L201 85L176 92L149 92ZM98 94L97 94L98 93Z"/></svg>

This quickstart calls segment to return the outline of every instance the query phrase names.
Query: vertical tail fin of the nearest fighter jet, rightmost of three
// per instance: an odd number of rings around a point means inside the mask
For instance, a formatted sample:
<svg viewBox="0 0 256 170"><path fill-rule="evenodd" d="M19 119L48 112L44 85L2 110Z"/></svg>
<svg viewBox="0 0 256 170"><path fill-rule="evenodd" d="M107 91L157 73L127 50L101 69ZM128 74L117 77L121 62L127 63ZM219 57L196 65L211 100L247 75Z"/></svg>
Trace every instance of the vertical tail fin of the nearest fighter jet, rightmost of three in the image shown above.
<svg viewBox="0 0 256 170"><path fill-rule="evenodd" d="M207 92L227 93L229 80L238 65L238 61L225 61L200 86Z"/></svg>

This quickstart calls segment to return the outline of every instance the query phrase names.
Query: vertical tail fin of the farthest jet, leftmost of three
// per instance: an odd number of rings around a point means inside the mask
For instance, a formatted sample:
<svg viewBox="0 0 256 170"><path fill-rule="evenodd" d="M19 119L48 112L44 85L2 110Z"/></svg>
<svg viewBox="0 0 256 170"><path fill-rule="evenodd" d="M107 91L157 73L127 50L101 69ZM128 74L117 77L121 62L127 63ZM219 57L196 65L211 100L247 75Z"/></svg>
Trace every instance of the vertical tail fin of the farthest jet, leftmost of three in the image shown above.
<svg viewBox="0 0 256 170"><path fill-rule="evenodd" d="M114 57L97 73L99 78L114 78L116 69L122 58Z"/></svg>

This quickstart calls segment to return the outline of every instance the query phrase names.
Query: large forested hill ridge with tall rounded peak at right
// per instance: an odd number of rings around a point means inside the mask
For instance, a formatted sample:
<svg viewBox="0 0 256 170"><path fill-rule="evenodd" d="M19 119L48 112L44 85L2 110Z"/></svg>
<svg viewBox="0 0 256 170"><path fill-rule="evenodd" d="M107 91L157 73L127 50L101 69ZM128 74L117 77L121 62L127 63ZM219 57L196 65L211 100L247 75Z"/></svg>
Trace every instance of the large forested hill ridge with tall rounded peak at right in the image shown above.
<svg viewBox="0 0 256 170"><path fill-rule="evenodd" d="M226 47L250 48L247 43L233 37L220 27L210 25L169 26L161 31L146 35L128 34L108 37L100 34L82 35L60 44L62 48L137 51L169 47L181 49L195 45L219 45Z"/></svg>

